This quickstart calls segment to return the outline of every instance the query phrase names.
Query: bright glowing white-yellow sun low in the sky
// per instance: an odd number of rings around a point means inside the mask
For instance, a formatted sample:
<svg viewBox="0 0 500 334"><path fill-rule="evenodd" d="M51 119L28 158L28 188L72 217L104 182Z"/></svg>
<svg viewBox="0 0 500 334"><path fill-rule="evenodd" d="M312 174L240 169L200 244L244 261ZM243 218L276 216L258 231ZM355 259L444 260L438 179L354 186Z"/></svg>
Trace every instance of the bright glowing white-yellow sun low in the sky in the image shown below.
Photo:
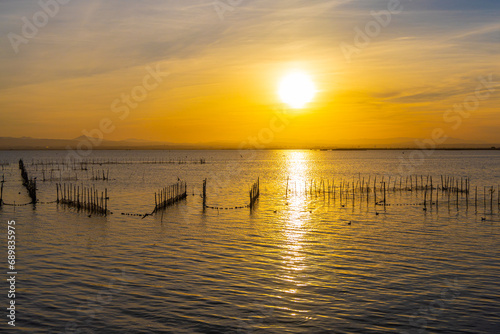
<svg viewBox="0 0 500 334"><path fill-rule="evenodd" d="M311 77L303 72L292 72L281 79L278 94L281 101L293 109L304 108L316 95Z"/></svg>

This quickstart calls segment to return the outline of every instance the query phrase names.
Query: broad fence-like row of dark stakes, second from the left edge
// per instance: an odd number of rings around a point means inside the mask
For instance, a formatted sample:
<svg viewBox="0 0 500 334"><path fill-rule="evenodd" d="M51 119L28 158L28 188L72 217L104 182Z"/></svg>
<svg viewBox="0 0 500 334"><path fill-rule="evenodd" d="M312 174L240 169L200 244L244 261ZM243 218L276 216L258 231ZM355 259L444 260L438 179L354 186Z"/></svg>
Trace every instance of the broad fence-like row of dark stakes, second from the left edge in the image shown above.
<svg viewBox="0 0 500 334"><path fill-rule="evenodd" d="M99 194L93 187L76 186L73 184L56 184L57 203L74 207L92 214L106 216L108 214L108 189Z"/></svg>

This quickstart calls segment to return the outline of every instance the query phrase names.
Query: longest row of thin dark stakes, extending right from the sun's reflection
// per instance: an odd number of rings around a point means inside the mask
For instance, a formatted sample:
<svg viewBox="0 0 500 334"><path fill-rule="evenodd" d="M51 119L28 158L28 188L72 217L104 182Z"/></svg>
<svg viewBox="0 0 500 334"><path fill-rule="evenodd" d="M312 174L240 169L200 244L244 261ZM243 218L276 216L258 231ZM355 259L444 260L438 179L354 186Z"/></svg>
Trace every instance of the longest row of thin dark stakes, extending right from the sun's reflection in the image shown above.
<svg viewBox="0 0 500 334"><path fill-rule="evenodd" d="M469 178L455 178L450 176L441 176L441 183L436 184L432 176L408 176L408 177L382 177L381 180L377 181L377 177L373 178L369 176L366 178L359 177L358 180L355 178L352 182L341 179L340 181L332 180L321 180L317 182L316 180L310 180L304 182L304 186L301 187L297 183L290 183L290 179L287 178L286 182L286 197L290 194L303 194L305 196L323 196L326 199L328 196L328 201L333 198L334 201L339 200L342 207L350 203L353 207L356 204L356 200L366 199L366 203L369 204L370 197L373 196L373 204L375 206L386 206L390 205L387 202L389 194L394 194L396 192L410 192L415 194L421 194L421 202L418 205L423 205L424 210L427 210L429 206L431 209L433 207L439 208L439 198L446 200L448 207L456 206L457 210L460 206L464 206L466 210L469 209L470 205L470 193L471 184ZM500 187L484 187L483 189L483 208L486 212L487 204L489 204L489 209L493 212L494 205L494 193L497 193L497 206L500 210ZM464 198L465 197L465 198ZM475 189L474 198L474 208L477 212L478 209L478 189Z"/></svg>

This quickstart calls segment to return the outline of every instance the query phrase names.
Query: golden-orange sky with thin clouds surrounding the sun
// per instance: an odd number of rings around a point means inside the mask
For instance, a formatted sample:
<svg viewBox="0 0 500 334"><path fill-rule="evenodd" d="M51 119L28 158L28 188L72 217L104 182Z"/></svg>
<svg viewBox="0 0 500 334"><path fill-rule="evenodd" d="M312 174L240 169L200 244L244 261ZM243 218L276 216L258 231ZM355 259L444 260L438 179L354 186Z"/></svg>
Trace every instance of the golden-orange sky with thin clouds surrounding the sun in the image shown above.
<svg viewBox="0 0 500 334"><path fill-rule="evenodd" d="M499 17L497 0L3 0L0 137L500 144ZM278 95L293 71L317 90L303 109Z"/></svg>

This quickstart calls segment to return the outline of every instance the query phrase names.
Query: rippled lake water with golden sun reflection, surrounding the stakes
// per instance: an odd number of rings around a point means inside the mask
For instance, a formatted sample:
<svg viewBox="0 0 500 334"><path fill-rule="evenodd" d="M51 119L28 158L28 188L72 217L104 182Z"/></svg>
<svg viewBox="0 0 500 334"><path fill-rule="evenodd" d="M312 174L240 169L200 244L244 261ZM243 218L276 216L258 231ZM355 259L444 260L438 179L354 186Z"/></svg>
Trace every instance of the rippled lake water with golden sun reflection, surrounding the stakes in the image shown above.
<svg viewBox="0 0 500 334"><path fill-rule="evenodd" d="M108 188L107 217L55 203L0 209L1 256L7 221L17 222L16 328L26 333L498 333L500 215L483 206L483 187L500 183L500 152L434 152L415 174L468 176L479 208L423 211L422 194L396 192L384 211L373 199L342 207L305 195L305 182L397 175L409 151L98 151L122 164L67 171L73 183ZM41 202L56 181L41 182L37 160L65 152L0 152L4 202L29 202L17 161L37 176ZM206 164L193 161L206 159ZM186 161L147 164L145 160ZM108 170L109 181L89 180ZM50 177L46 170L45 177ZM56 172L52 177L55 179ZM248 204L253 211L202 210ZM292 192L285 196L287 178ZM154 192L178 179L188 199L154 216ZM330 181L331 180L331 181ZM69 181L66 181L70 183ZM437 181L435 181L437 182ZM309 187L309 186L308 186ZM487 195L489 199L489 195ZM411 204L411 205L409 205ZM378 214L377 214L378 213ZM484 218L485 220L482 220ZM350 224L349 224L350 222ZM7 265L2 271L6 276ZM5 281L4 281L5 282Z"/></svg>

